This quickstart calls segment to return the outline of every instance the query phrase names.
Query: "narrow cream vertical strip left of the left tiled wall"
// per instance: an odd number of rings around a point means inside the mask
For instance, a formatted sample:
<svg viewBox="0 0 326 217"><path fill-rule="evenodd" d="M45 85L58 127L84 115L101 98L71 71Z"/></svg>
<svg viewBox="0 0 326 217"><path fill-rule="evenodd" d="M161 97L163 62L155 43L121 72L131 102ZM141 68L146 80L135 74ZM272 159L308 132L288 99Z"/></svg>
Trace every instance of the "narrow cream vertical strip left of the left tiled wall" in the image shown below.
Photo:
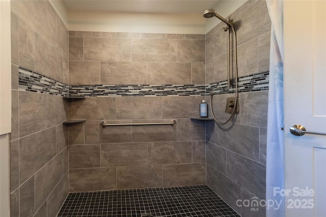
<svg viewBox="0 0 326 217"><path fill-rule="evenodd" d="M9 133L11 132L10 1L0 1L0 216L10 216Z"/></svg>

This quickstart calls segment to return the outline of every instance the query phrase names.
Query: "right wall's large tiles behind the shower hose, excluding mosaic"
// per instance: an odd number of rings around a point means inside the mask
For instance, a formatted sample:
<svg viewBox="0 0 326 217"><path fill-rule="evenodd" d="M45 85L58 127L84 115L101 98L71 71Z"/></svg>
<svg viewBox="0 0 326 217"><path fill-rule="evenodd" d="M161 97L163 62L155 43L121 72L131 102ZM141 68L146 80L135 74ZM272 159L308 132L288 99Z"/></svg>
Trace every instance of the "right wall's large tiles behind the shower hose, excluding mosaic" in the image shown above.
<svg viewBox="0 0 326 217"><path fill-rule="evenodd" d="M230 15L237 34L238 75L269 70L271 23L265 1L248 1ZM218 24L206 34L206 84L227 79L225 32ZM233 73L234 76L234 73ZM226 121L226 98L234 94L214 95L213 109ZM239 199L265 199L266 127L268 91L239 94L240 112L232 123L206 124L206 184L241 216L264 216L241 210Z"/></svg>

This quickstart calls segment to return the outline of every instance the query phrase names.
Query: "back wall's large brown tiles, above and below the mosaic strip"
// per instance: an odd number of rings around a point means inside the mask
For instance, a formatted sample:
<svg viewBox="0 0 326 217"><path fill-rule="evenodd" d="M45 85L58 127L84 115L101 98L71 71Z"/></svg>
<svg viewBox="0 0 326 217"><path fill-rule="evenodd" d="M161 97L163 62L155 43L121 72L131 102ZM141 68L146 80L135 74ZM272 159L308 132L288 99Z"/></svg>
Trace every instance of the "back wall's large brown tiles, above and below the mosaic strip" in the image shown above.
<svg viewBox="0 0 326 217"><path fill-rule="evenodd" d="M69 85L89 84L205 84L204 35L70 31ZM69 126L70 191L204 184L205 125L189 120L202 99L70 100L69 118L87 119ZM99 126L171 119L176 126Z"/></svg>

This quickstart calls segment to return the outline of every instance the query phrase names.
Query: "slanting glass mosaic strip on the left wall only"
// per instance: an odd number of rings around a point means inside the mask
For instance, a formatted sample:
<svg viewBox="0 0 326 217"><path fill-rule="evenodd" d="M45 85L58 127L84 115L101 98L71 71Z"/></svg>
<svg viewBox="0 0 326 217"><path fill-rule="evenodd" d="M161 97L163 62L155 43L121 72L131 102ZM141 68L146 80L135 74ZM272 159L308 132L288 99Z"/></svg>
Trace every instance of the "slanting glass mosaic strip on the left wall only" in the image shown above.
<svg viewBox="0 0 326 217"><path fill-rule="evenodd" d="M36 93L68 96L68 85L20 66L18 69L18 89Z"/></svg>

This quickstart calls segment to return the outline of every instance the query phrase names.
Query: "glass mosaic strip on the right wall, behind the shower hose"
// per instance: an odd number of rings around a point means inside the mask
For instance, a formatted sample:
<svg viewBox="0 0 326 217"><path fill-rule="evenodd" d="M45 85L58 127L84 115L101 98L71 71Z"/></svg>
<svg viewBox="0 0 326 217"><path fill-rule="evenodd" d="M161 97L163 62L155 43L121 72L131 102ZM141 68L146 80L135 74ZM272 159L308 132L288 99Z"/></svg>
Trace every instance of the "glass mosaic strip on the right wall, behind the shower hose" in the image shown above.
<svg viewBox="0 0 326 217"><path fill-rule="evenodd" d="M251 75L246 75L238 78L238 92L252 92L268 90L269 72L260 72ZM210 92L213 94L234 93L235 88L228 88L227 80L222 82L212 83L206 87L206 95Z"/></svg>

